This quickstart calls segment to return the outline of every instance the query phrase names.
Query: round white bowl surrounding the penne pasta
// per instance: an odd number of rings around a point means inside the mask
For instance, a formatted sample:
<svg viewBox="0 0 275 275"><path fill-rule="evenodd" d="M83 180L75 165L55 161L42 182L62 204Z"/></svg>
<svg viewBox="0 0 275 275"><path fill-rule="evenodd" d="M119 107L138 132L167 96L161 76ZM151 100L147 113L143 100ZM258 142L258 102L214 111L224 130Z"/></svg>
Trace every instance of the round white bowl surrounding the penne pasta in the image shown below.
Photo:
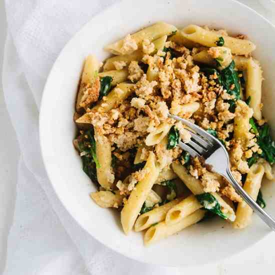
<svg viewBox="0 0 275 275"><path fill-rule="evenodd" d="M190 23L244 33L257 45L254 56L264 71L264 114L270 124L275 116L275 28L247 6L233 0L139 0L119 2L93 17L66 44L48 76L40 110L40 143L44 164L59 199L71 216L91 236L133 259L165 265L203 264L232 255L260 240L269 228L253 215L244 230L233 229L221 219L198 223L145 248L142 233L125 236L119 215L98 207L89 198L95 186L82 171L72 146L72 120L83 60L89 53L99 60L108 56L102 47L139 28L163 20L178 27ZM266 209L275 213L274 184L263 184ZM273 203L271 203L273 202Z"/></svg>

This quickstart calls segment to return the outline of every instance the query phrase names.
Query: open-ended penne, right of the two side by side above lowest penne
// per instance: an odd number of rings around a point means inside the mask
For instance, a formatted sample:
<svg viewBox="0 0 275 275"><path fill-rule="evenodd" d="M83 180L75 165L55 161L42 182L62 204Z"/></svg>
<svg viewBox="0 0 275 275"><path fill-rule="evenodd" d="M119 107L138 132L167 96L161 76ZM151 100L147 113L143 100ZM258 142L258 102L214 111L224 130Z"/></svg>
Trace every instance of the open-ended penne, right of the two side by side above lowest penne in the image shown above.
<svg viewBox="0 0 275 275"><path fill-rule="evenodd" d="M197 201L196 197L192 194L182 199L179 203L174 205L166 214L165 223L167 225L179 222L182 218L193 213L202 205Z"/></svg>

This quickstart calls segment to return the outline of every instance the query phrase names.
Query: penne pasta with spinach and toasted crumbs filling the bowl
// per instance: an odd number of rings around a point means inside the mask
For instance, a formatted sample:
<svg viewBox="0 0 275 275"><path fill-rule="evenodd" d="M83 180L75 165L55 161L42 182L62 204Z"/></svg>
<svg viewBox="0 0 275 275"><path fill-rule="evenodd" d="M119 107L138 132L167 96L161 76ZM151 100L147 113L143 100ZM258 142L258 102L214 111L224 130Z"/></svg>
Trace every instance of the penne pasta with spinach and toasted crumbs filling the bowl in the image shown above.
<svg viewBox="0 0 275 275"><path fill-rule="evenodd" d="M218 138L237 182L261 206L275 144L261 109L262 70L245 35L157 22L86 57L76 98L73 144L100 207L120 211L123 231L146 230L148 245L219 216L246 227L252 209L201 157L177 146L188 119ZM194 141L194 140L193 140Z"/></svg>

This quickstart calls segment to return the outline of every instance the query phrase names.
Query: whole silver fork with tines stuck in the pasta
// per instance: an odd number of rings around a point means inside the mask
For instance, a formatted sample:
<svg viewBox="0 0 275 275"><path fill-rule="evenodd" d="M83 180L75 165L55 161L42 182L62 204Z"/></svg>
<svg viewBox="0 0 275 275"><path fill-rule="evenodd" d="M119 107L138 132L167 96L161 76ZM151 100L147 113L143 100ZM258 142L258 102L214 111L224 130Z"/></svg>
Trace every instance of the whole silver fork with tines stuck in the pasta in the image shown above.
<svg viewBox="0 0 275 275"><path fill-rule="evenodd" d="M169 114L170 118L183 122L192 131L189 131L192 139L188 143L180 141L178 145L191 156L202 156L205 163L213 167L213 170L227 179L235 191L245 200L245 202L255 211L255 213L275 231L275 220L267 214L243 188L237 183L229 169L229 156L223 144L214 136L203 130L190 121L176 115Z"/></svg>

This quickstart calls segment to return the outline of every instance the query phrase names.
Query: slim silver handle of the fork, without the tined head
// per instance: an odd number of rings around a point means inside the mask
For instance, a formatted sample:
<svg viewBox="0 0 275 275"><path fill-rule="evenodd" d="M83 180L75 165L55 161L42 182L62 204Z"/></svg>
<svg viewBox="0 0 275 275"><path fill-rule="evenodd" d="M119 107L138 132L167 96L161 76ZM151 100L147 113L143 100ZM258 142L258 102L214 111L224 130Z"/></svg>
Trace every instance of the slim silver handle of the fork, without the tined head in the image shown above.
<svg viewBox="0 0 275 275"><path fill-rule="evenodd" d="M275 231L275 220L267 214L250 195L238 184L229 169L226 170L225 178L231 182L235 191L245 200L245 202L255 211L255 213L273 230Z"/></svg>

